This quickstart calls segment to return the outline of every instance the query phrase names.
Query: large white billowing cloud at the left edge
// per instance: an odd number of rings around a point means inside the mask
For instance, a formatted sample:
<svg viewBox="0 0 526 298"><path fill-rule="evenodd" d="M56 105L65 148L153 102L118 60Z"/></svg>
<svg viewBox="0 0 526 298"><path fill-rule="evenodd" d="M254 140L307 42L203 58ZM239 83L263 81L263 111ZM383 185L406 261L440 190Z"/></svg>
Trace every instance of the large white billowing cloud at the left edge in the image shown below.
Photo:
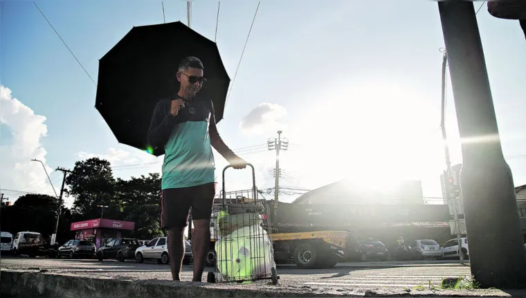
<svg viewBox="0 0 526 298"><path fill-rule="evenodd" d="M39 159L46 165L47 152L41 143L48 132L45 121L45 116L35 114L33 109L12 97L11 89L0 85L0 125L8 128L0 133L11 134L1 138L9 141L0 143L0 182L2 192L10 201L24 195L24 191L54 195L42 164L31 161ZM56 178L47 165L46 170ZM57 186L55 189L60 189L60 184Z"/></svg>

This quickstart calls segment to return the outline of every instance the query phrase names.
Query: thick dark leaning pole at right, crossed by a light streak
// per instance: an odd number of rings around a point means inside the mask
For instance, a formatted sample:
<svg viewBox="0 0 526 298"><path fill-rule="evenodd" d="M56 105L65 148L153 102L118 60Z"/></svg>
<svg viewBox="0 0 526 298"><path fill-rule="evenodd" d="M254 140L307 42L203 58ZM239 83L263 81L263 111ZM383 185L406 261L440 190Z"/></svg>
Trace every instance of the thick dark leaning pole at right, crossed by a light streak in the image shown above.
<svg viewBox="0 0 526 298"><path fill-rule="evenodd" d="M495 108L473 2L439 1L462 146L460 188L471 274L483 288L526 288L526 261L511 169Z"/></svg>

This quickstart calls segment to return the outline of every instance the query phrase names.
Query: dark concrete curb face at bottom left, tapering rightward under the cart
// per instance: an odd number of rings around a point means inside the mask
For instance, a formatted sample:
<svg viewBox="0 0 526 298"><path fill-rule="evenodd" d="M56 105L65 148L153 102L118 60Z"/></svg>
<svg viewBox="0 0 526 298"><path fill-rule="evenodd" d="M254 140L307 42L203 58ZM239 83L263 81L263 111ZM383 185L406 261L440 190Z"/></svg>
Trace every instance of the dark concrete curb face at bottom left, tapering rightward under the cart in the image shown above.
<svg viewBox="0 0 526 298"><path fill-rule="evenodd" d="M305 288L127 281L81 278L50 272L1 270L1 297L363 297L364 293L316 292Z"/></svg>

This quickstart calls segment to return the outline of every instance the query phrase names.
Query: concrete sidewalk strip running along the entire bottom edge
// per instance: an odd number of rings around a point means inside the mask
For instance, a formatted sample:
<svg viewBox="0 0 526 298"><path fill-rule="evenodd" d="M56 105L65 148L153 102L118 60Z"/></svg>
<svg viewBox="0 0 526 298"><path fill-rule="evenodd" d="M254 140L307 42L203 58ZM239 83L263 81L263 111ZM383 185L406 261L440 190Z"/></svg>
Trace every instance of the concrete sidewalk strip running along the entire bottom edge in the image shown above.
<svg viewBox="0 0 526 298"><path fill-rule="evenodd" d="M0 272L2 297L526 297L526 291L500 290L370 290L368 288L321 288L272 286L266 281L235 283L174 283L166 280L114 279L92 274L54 273L47 270Z"/></svg>

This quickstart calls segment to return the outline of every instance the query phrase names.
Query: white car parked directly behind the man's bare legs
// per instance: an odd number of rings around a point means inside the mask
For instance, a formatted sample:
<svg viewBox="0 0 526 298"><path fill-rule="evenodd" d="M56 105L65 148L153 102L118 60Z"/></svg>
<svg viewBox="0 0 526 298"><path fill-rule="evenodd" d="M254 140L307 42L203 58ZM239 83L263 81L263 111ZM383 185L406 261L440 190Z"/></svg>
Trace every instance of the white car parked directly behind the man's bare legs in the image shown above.
<svg viewBox="0 0 526 298"><path fill-rule="evenodd" d="M188 240L185 240L185 245L183 264L188 265L193 261L192 246ZM154 238L147 243L147 245L138 247L135 252L135 261L137 263L143 263L145 260L156 260L159 264L170 263L166 237Z"/></svg>

